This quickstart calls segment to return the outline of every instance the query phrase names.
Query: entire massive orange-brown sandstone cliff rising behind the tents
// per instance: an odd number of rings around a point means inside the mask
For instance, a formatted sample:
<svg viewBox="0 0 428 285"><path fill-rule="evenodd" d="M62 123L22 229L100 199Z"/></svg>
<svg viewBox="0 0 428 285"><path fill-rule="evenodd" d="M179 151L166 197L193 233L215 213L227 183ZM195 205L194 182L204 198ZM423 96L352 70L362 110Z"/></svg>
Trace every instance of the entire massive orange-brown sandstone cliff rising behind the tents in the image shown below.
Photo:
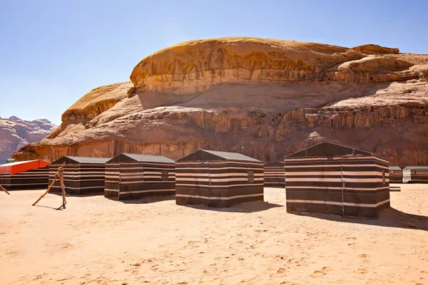
<svg viewBox="0 0 428 285"><path fill-rule="evenodd" d="M19 160L198 148L260 160L330 140L428 164L428 56L260 38L189 41L144 58L131 82L91 90Z"/></svg>

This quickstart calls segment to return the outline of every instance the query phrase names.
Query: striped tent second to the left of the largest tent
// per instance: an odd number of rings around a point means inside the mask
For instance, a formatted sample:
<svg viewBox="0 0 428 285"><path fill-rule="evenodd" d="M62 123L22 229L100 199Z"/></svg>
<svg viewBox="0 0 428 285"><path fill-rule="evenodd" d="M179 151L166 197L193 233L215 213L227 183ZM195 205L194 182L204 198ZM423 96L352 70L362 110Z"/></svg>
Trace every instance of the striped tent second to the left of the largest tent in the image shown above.
<svg viewBox="0 0 428 285"><path fill-rule="evenodd" d="M156 155L122 153L106 163L104 196L136 199L175 194L175 161Z"/></svg>

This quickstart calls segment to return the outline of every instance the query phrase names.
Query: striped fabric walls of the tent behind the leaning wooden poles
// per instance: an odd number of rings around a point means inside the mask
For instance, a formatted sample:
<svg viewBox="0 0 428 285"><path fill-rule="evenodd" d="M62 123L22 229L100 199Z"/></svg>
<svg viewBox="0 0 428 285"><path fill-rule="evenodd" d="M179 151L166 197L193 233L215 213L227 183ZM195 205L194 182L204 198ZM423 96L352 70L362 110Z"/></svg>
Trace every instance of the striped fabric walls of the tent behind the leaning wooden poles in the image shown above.
<svg viewBox="0 0 428 285"><path fill-rule="evenodd" d="M58 172L57 165L51 164L49 170L49 183L54 179L54 175ZM64 187L66 193L84 195L84 194L100 194L104 192L106 166L104 163L75 163L65 165L63 168ZM56 182L52 190L61 192L59 182Z"/></svg>

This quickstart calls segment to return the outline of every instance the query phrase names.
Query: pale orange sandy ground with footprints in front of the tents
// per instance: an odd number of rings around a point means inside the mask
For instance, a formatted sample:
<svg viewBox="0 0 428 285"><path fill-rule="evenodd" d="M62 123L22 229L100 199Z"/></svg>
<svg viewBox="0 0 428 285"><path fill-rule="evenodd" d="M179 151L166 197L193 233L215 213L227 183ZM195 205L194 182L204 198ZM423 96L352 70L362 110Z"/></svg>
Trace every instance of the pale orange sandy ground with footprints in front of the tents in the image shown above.
<svg viewBox="0 0 428 285"><path fill-rule="evenodd" d="M428 185L400 186L379 220L1 192L0 284L428 284Z"/></svg>

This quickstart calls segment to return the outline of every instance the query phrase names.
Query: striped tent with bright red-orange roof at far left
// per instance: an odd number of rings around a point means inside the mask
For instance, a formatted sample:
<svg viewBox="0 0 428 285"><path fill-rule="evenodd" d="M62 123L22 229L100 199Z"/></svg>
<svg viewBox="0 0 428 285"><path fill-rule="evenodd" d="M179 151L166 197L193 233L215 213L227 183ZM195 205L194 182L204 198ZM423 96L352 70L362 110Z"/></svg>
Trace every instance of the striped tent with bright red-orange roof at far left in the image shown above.
<svg viewBox="0 0 428 285"><path fill-rule="evenodd" d="M29 160L0 165L0 185L6 190L46 189L49 180L49 162Z"/></svg>

